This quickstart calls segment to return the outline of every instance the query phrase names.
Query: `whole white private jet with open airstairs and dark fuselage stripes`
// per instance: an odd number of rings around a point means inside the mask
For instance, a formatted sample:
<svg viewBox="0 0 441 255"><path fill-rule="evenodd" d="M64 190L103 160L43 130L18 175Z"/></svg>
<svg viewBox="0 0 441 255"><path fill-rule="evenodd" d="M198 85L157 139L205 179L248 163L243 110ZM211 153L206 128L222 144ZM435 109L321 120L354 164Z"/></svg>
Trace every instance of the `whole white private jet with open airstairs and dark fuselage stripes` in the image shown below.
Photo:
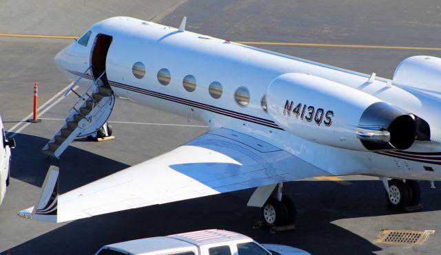
<svg viewBox="0 0 441 255"><path fill-rule="evenodd" d="M256 188L248 206L281 225L295 217L285 181L379 177L389 206L404 208L419 203L418 180L441 179L441 58L407 58L388 80L187 32L185 18L176 29L121 16L90 27L55 63L87 91L48 155L101 128L115 96L210 131L63 195L52 167L22 217L72 221Z"/></svg>

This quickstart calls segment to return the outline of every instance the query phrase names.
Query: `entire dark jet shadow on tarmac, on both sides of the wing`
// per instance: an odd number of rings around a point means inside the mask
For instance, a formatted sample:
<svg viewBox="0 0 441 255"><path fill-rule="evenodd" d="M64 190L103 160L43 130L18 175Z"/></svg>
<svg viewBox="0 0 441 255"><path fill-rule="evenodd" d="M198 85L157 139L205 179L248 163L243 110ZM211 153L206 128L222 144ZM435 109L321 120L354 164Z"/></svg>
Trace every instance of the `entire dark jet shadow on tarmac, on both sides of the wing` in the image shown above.
<svg viewBox="0 0 441 255"><path fill-rule="evenodd" d="M59 162L50 161L39 153L46 139L17 135L16 140L19 145L14 151L16 160L13 160L12 167L17 170L12 172L12 177L41 186L48 166L58 164L62 169L61 193L127 167L74 147L66 151L69 157ZM259 210L245 206L253 190L242 190L73 221L13 247L12 254L93 254L108 243L209 228L240 232L261 243L299 247L311 254L353 254L353 251L372 254L381 250L380 247L340 228L333 221L404 212L385 206L384 188L380 181L351 182L349 186L333 181L285 184L285 195L296 201L298 209L296 230L293 231L271 234L267 228L253 229L254 223L259 220ZM420 212L441 210L441 204L435 203L441 191L430 189L425 182L422 184L425 207Z"/></svg>

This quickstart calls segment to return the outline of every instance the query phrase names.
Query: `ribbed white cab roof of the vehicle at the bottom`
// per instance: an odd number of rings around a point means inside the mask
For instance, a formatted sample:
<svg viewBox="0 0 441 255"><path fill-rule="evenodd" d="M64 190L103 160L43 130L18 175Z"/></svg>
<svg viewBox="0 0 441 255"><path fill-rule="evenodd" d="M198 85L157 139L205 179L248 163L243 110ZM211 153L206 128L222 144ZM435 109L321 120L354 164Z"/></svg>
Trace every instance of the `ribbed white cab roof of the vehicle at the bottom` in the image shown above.
<svg viewBox="0 0 441 255"><path fill-rule="evenodd" d="M248 236L227 230L201 230L182 234L172 234L168 237L192 243L199 247L214 243L227 243L232 241L235 243L245 243L253 241L253 239Z"/></svg>

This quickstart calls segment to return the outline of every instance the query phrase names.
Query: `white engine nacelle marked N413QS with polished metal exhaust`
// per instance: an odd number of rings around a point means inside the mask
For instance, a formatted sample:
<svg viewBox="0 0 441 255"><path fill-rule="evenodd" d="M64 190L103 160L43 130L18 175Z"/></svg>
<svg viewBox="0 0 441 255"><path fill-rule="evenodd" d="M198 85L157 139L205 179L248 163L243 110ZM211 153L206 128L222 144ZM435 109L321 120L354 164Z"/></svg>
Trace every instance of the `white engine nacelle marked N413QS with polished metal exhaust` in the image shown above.
<svg viewBox="0 0 441 255"><path fill-rule="evenodd" d="M283 74L267 91L267 111L286 131L356 151L405 150L416 117L367 93L308 74Z"/></svg>

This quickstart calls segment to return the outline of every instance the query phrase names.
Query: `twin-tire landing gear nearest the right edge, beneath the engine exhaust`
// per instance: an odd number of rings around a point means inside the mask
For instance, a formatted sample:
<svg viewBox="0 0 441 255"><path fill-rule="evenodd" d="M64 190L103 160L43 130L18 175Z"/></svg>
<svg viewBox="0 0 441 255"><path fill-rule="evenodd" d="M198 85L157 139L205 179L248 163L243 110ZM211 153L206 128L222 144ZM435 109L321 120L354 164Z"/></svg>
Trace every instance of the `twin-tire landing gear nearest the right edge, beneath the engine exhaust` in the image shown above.
<svg viewBox="0 0 441 255"><path fill-rule="evenodd" d="M383 180L383 184L386 182ZM387 181L389 192L386 190L387 205L394 209L405 209L420 204L420 185L414 180L391 179ZM386 186L385 186L386 188Z"/></svg>

